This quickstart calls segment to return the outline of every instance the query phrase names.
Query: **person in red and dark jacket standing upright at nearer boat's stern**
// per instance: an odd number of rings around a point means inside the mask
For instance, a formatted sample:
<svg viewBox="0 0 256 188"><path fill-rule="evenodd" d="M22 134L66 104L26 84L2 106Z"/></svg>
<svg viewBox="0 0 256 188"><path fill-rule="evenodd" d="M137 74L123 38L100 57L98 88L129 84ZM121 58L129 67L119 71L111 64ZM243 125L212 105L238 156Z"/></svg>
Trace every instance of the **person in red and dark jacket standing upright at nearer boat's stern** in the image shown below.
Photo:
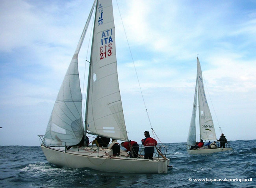
<svg viewBox="0 0 256 188"><path fill-rule="evenodd" d="M148 131L144 132L145 138L141 140L141 144L145 146L144 159L153 159L153 153L155 152L154 146L157 145L157 142L154 138L151 138Z"/></svg>

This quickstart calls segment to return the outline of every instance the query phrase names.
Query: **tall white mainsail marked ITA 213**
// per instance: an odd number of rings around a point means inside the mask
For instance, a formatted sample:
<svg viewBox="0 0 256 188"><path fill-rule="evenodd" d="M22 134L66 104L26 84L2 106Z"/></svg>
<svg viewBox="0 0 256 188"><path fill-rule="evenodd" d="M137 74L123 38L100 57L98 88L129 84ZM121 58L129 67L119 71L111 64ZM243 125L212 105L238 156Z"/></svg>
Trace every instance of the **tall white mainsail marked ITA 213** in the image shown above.
<svg viewBox="0 0 256 188"><path fill-rule="evenodd" d="M111 0L99 0L96 5L86 123L89 133L119 140L127 139L117 77Z"/></svg>

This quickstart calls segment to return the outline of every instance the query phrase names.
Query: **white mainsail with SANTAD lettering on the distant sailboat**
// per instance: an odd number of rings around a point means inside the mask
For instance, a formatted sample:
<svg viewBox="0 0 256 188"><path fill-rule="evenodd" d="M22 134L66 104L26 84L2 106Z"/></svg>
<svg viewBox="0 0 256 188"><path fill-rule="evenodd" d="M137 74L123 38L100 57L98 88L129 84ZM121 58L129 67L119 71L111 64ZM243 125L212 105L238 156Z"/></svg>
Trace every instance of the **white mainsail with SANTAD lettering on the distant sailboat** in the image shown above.
<svg viewBox="0 0 256 188"><path fill-rule="evenodd" d="M199 104L199 124L200 124L200 139L216 140L216 133L211 117L211 112L206 100L204 92L204 83L202 79L202 70L199 59L197 57L197 83L198 83L198 104Z"/></svg>

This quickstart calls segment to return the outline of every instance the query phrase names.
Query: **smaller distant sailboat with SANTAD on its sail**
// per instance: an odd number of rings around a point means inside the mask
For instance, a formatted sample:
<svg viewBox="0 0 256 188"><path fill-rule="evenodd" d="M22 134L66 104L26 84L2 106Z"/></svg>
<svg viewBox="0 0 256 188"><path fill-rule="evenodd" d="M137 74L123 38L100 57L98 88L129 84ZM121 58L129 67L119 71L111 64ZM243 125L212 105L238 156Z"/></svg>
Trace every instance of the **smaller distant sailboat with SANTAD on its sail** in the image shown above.
<svg viewBox="0 0 256 188"><path fill-rule="evenodd" d="M198 106L197 106L197 97L198 97ZM215 153L220 151L230 151L232 147L229 147L229 144L226 144L226 147L222 148L209 148L208 146L200 147L197 149L191 149L191 146L196 145L196 114L198 107L199 115L199 130L200 130L200 140L204 141L217 141L215 128L213 120L211 117L211 112L206 100L206 94L204 92L204 83L202 79L202 70L199 59L197 57L197 80L195 87L195 96L193 103L193 111L191 122L189 126L189 133L187 136L187 152L189 154L205 154L205 153ZM200 141L199 140L199 141Z"/></svg>

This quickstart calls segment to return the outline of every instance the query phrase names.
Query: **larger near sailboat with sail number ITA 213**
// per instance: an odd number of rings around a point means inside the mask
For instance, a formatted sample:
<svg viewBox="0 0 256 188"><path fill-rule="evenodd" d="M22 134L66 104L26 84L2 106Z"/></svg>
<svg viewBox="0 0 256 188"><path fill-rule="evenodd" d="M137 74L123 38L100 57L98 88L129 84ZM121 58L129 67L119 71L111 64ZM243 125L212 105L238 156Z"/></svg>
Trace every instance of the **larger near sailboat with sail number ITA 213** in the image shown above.
<svg viewBox="0 0 256 188"><path fill-rule="evenodd" d="M95 9L95 10L94 10ZM95 11L89 66L85 125L78 74L78 53ZM51 164L121 173L164 173L170 159L161 151L153 159L130 158L120 149L85 145L86 134L128 141L117 76L115 26L111 0L95 0L74 52L48 122L40 136L41 149ZM81 146L82 143L82 146ZM80 144L80 145L79 145ZM158 147L157 151L161 148ZM166 154L166 152L165 152Z"/></svg>

